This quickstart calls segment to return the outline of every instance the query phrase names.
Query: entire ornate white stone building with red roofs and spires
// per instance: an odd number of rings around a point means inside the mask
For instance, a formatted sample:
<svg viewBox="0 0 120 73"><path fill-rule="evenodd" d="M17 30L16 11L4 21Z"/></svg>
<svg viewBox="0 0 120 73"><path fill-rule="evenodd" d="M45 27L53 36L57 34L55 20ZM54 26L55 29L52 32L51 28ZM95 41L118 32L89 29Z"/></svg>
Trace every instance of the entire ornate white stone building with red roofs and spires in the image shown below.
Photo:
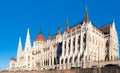
<svg viewBox="0 0 120 73"><path fill-rule="evenodd" d="M52 39L46 40L40 31L31 46L29 29L25 49L19 38L17 59L11 59L10 71L31 71L48 69L70 69L71 67L91 68L97 61L118 59L118 35L114 21L107 26L97 28L92 25L87 10L83 21L74 27L58 32Z"/></svg>

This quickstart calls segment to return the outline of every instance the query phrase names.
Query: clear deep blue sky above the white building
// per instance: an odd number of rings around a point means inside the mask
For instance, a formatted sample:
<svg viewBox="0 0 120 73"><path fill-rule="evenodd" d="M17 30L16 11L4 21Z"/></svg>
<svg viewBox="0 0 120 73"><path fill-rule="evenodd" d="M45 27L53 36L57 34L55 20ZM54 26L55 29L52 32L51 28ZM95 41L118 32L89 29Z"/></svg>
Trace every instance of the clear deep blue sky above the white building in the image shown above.
<svg viewBox="0 0 120 73"><path fill-rule="evenodd" d="M11 57L16 57L20 36L24 48L27 27L31 42L40 27L47 38L48 31L51 35L57 32L58 24L64 31L67 17L70 26L81 22L86 5L95 26L114 19L120 37L120 0L0 0L0 69L9 66Z"/></svg>

